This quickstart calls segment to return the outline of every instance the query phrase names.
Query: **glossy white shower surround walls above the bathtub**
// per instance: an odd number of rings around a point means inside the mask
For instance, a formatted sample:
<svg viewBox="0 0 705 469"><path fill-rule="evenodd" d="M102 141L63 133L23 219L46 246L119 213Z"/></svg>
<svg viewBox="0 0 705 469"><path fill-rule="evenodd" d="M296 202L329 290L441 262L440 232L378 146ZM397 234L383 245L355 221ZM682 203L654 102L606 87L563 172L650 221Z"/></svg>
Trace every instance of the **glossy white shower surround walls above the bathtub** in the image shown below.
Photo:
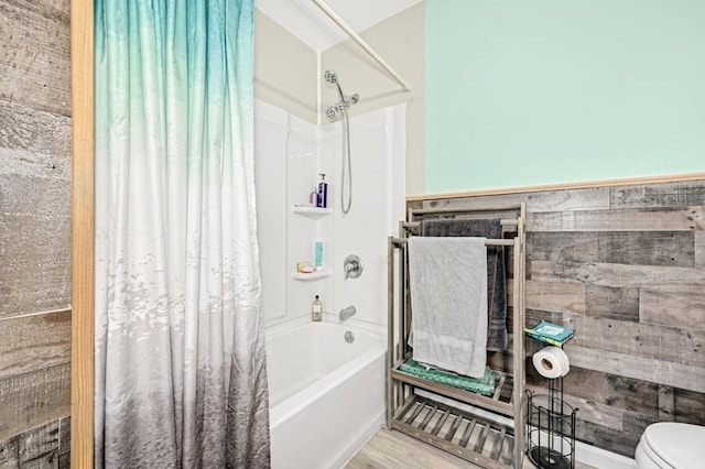
<svg viewBox="0 0 705 469"><path fill-rule="evenodd" d="M405 106L350 118L352 206L340 210L341 124L315 126L256 101L256 186L262 303L265 325L311 314L315 295L324 320L357 307L352 320L387 324L387 237L404 216ZM280 168L285 168L281 171ZM273 171L275 168L275 171ZM308 195L326 175L328 210L308 210ZM296 263L313 263L323 241L321 274L295 275ZM345 279L348 254L362 259L359 279Z"/></svg>

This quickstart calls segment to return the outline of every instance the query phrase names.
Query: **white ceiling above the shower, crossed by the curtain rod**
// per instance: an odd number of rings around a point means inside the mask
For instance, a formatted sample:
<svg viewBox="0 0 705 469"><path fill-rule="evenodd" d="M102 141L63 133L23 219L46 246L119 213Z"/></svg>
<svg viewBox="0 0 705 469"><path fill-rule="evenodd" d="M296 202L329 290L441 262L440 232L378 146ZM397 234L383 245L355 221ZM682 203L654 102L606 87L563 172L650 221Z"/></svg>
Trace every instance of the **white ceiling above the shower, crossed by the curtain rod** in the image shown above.
<svg viewBox="0 0 705 469"><path fill-rule="evenodd" d="M324 0L356 32L422 0ZM256 0L257 8L316 52L348 39L312 0Z"/></svg>

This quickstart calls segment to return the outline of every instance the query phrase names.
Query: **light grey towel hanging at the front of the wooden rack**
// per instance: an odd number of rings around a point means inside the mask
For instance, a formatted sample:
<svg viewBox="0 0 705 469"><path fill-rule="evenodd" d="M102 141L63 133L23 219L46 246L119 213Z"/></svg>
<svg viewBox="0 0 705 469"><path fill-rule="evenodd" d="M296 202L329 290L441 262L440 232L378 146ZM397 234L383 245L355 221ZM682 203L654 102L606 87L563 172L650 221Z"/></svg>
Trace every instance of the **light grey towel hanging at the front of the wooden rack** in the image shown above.
<svg viewBox="0 0 705 469"><path fill-rule="evenodd" d="M409 238L416 361L482 377L487 361L485 238Z"/></svg>

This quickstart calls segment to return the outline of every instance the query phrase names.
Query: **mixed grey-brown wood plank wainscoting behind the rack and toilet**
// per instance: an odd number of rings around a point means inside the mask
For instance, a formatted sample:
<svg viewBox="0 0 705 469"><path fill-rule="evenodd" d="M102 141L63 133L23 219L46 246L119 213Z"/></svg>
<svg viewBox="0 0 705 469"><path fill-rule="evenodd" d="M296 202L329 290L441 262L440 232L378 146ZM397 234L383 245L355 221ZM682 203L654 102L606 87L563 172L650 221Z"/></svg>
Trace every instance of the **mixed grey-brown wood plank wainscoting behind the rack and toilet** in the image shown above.
<svg viewBox="0 0 705 469"><path fill-rule="evenodd" d="M409 205L519 200L529 212L527 324L577 330L564 380L577 438L633 457L653 422L705 425L705 179ZM541 347L527 340L529 389L547 385L531 362Z"/></svg>

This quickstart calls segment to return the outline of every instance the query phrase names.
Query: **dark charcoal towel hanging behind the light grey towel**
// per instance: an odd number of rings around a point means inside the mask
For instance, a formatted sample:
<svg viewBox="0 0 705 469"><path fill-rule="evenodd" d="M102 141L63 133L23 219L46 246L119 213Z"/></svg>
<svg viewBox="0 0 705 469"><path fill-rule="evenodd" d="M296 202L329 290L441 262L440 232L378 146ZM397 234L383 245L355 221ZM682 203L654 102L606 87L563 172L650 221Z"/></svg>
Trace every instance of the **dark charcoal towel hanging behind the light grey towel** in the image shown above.
<svg viewBox="0 0 705 469"><path fill-rule="evenodd" d="M432 237L486 237L500 239L502 226L499 218L422 220L421 236ZM487 350L507 348L507 275L505 248L487 247Z"/></svg>

